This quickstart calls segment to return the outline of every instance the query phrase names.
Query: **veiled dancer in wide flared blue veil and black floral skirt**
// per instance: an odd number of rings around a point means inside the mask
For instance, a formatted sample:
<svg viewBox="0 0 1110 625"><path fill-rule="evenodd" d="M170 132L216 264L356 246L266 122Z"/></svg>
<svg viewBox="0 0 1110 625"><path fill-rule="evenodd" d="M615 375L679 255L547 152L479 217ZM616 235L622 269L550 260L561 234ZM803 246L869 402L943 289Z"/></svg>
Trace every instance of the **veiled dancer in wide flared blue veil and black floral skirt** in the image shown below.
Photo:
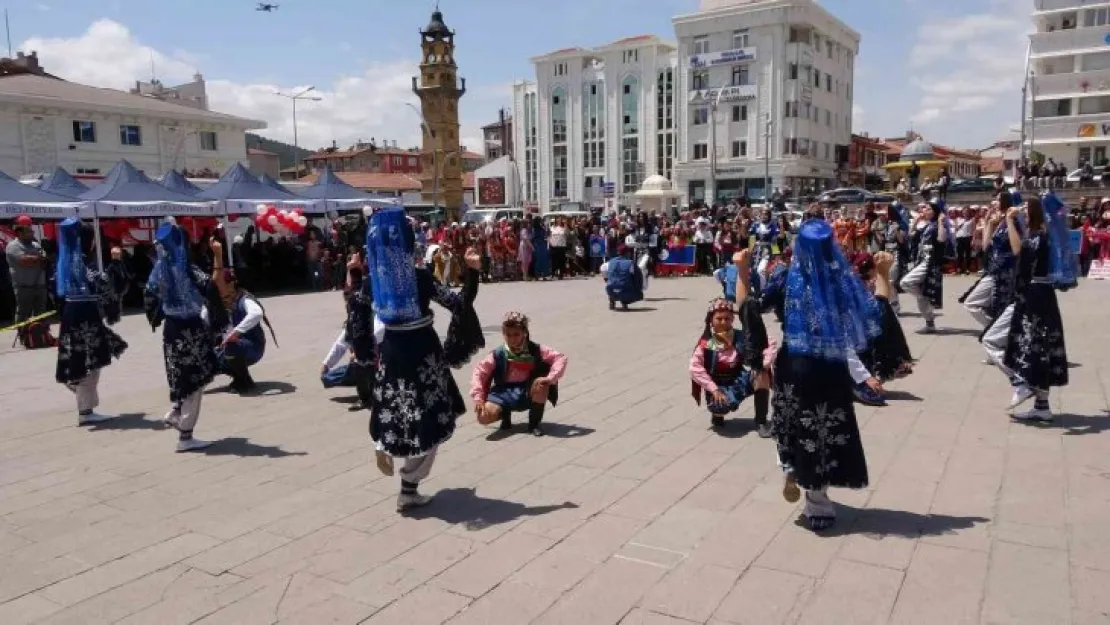
<svg viewBox="0 0 1110 625"><path fill-rule="evenodd" d="M775 361L771 432L788 502L819 532L836 522L829 486L867 486L852 404L856 354L879 334L867 288L834 242L833 228L801 225L787 278L784 344ZM858 363L857 363L858 364Z"/></svg>

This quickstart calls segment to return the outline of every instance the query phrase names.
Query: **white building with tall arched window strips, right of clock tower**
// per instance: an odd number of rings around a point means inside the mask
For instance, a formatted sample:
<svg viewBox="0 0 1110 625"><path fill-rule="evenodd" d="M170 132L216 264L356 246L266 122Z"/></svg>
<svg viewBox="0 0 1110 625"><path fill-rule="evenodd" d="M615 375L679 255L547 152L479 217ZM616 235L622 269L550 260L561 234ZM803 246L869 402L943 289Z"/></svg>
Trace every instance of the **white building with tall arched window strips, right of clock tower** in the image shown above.
<svg viewBox="0 0 1110 625"><path fill-rule="evenodd" d="M675 47L655 36L532 59L513 89L513 143L526 203L634 206L640 182L673 179L679 147Z"/></svg>

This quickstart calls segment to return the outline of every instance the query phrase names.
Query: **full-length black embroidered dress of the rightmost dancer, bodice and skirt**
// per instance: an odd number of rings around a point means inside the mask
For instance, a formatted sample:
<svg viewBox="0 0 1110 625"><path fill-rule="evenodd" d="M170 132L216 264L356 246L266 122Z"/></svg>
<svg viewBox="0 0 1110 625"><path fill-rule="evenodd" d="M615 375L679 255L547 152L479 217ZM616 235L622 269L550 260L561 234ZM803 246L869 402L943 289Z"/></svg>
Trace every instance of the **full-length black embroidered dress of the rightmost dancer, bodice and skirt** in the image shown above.
<svg viewBox="0 0 1110 625"><path fill-rule="evenodd" d="M1033 389L1067 386L1068 352L1056 289L1046 280L1049 238L1036 232L1021 242L1013 300L1013 319L1005 363Z"/></svg>

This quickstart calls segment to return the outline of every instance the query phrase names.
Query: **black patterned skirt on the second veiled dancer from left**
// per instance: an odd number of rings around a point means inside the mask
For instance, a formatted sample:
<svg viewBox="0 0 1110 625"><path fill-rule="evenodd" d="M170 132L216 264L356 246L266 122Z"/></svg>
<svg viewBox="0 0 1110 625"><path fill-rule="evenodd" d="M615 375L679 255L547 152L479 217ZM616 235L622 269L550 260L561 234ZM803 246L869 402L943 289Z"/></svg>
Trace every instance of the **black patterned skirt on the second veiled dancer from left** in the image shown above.
<svg viewBox="0 0 1110 625"><path fill-rule="evenodd" d="M212 334L200 317L165 317L162 355L171 402L180 402L208 386L220 367Z"/></svg>

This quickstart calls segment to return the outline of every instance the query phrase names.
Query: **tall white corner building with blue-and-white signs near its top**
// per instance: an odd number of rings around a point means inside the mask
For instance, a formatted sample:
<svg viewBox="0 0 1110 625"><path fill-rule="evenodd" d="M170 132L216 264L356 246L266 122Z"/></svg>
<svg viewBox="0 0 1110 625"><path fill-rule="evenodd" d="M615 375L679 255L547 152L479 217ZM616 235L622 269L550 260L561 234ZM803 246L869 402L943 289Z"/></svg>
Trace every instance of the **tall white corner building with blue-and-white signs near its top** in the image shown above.
<svg viewBox="0 0 1110 625"><path fill-rule="evenodd" d="M674 18L689 201L833 187L851 141L859 33L814 0L702 0Z"/></svg>

